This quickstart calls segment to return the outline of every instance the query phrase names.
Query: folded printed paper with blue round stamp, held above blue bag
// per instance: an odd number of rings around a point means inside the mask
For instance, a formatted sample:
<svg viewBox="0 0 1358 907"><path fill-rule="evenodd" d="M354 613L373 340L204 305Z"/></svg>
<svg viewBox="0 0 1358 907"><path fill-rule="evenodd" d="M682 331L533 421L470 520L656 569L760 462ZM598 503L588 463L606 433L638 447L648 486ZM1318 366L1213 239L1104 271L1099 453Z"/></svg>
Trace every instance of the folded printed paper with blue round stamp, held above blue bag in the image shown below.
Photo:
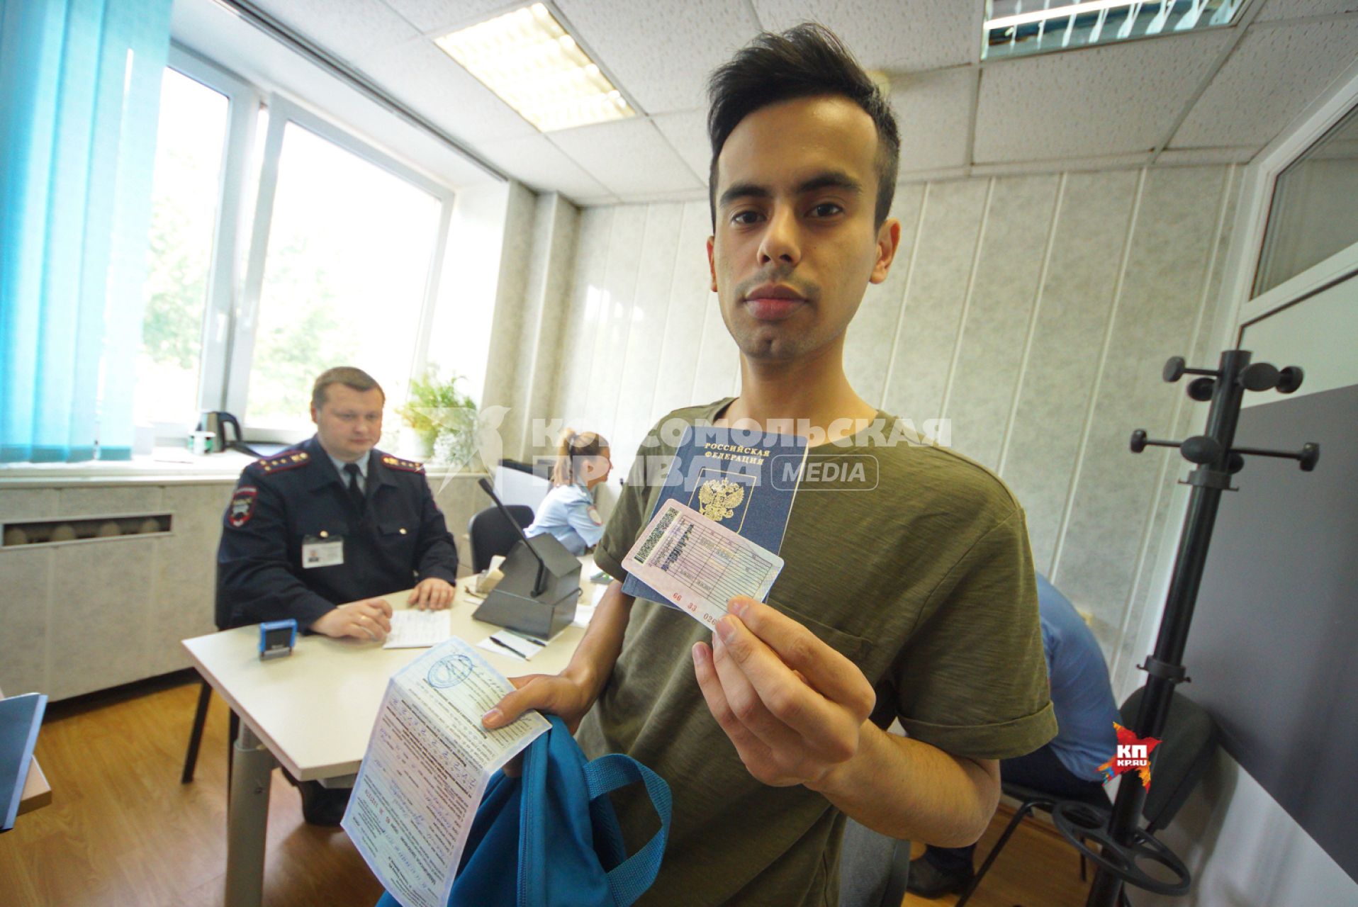
<svg viewBox="0 0 1358 907"><path fill-rule="evenodd" d="M448 903L490 775L550 726L528 711L498 730L482 728L481 716L511 690L458 638L387 684L340 826L402 907Z"/></svg>

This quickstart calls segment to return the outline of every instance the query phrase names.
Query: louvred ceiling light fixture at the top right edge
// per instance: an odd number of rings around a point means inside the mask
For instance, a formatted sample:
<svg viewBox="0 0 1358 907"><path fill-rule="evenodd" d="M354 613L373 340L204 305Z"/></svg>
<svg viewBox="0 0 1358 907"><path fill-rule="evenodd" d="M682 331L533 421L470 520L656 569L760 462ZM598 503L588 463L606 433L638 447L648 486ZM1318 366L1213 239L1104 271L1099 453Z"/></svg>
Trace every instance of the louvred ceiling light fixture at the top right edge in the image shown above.
<svg viewBox="0 0 1358 907"><path fill-rule="evenodd" d="M985 0L980 56L1020 57L1229 26L1248 1ZM1039 3L1042 8L1031 8Z"/></svg>

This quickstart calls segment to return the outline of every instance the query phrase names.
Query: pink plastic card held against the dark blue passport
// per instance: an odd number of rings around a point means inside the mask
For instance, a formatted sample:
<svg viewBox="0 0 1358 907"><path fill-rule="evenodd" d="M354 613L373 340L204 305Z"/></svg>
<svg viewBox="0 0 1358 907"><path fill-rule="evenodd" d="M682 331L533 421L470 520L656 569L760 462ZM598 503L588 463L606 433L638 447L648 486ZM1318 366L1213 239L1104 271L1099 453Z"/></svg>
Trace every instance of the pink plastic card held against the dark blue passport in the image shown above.
<svg viewBox="0 0 1358 907"><path fill-rule="evenodd" d="M675 500L665 501L627 551L627 573L709 629L727 603L747 595L763 601L782 558Z"/></svg>

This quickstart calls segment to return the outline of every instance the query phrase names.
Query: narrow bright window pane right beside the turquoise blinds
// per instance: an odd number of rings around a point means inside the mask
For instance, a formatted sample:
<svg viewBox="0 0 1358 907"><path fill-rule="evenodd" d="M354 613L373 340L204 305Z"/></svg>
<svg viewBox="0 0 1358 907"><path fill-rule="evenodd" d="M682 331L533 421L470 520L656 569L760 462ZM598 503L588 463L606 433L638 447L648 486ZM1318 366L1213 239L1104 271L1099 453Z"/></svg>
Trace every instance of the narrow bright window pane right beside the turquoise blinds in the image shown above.
<svg viewBox="0 0 1358 907"><path fill-rule="evenodd" d="M136 420L193 426L217 217L228 102L166 69L160 88L151 257L147 269Z"/></svg>

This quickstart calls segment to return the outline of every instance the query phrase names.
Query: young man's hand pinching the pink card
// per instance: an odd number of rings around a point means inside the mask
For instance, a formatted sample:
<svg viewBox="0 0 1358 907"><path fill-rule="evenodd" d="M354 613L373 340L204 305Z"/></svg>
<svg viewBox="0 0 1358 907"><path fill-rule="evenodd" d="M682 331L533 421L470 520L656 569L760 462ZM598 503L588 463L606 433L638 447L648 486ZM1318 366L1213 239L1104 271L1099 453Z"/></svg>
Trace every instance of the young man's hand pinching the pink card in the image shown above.
<svg viewBox="0 0 1358 907"><path fill-rule="evenodd" d="M858 752L876 694L858 667L754 599L732 599L713 649L693 648L712 716L758 781L815 788Z"/></svg>

